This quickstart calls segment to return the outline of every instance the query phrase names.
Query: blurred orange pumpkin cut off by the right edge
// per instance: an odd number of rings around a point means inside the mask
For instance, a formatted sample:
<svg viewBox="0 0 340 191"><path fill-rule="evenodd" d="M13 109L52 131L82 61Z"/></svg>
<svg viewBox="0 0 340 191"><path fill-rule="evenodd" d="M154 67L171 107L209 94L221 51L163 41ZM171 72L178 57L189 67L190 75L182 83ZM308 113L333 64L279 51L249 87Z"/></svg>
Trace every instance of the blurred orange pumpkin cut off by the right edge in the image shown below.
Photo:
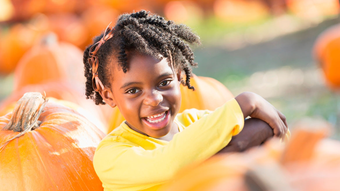
<svg viewBox="0 0 340 191"><path fill-rule="evenodd" d="M319 35L314 43L313 55L323 69L327 85L340 88L340 24Z"/></svg>

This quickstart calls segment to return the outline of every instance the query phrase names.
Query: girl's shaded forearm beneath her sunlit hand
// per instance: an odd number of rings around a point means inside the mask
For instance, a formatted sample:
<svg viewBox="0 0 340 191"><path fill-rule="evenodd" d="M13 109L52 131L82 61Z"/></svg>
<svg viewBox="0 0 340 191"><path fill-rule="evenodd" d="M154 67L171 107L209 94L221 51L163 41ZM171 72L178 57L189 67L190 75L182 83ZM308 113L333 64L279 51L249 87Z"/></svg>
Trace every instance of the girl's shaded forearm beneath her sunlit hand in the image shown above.
<svg viewBox="0 0 340 191"><path fill-rule="evenodd" d="M273 129L266 122L255 118L246 119L242 131L233 136L229 144L218 153L241 152L260 145L273 135Z"/></svg>

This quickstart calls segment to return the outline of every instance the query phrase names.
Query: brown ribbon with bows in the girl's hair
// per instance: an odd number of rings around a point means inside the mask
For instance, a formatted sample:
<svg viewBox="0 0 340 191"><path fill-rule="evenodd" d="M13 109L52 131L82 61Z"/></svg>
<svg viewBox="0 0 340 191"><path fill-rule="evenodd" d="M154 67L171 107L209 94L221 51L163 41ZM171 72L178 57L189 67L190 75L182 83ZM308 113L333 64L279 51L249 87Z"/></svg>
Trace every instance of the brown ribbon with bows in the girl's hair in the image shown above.
<svg viewBox="0 0 340 191"><path fill-rule="evenodd" d="M110 23L111 24L111 23ZM109 25L110 25L109 24ZM98 65L99 60L96 56L97 51L99 50L100 46L104 44L108 39L111 39L113 37L113 30L114 28L112 26L109 27L109 25L106 27L103 38L100 39L100 41L96 42L94 45L91 46L89 51L89 56L91 58L88 59L88 64L90 65L90 68L92 70L92 87L95 91L99 91L100 87L104 89L104 86L102 82L98 78Z"/></svg>

